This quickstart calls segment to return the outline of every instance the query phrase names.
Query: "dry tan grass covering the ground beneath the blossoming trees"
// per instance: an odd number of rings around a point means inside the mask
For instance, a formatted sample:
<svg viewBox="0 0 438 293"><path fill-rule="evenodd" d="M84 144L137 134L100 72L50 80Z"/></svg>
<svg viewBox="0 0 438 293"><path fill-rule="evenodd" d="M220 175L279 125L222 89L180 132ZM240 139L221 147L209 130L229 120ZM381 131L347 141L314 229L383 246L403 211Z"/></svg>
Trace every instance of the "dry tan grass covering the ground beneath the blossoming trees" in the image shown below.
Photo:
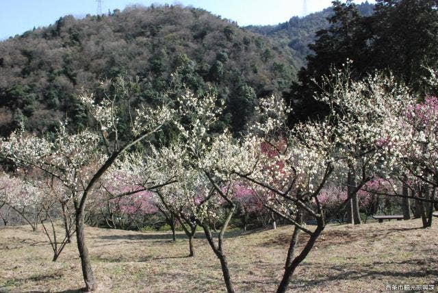
<svg viewBox="0 0 438 293"><path fill-rule="evenodd" d="M296 271L291 292L382 292L385 284L438 279L438 225L420 220L326 228ZM224 292L220 264L198 232L196 257L182 233L86 229L99 292ZM272 292L292 227L233 232L225 245L238 292ZM304 239L304 236L302 236ZM0 292L76 292L83 286L75 243L57 262L42 232L0 229ZM437 284L438 285L438 284ZM435 285L435 288L437 288Z"/></svg>

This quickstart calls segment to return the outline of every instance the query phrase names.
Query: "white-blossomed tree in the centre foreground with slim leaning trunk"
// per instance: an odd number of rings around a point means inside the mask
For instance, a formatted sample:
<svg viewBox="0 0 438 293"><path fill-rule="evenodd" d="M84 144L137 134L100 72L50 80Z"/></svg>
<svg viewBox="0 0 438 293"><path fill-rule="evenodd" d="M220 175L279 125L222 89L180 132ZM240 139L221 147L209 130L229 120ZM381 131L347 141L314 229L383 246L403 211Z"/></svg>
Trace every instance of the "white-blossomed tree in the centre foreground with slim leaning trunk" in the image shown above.
<svg viewBox="0 0 438 293"><path fill-rule="evenodd" d="M235 156L241 152L238 146L229 143L232 139L229 131L213 133L224 109L224 101L211 93L196 97L187 92L183 100L177 98L177 103L185 113L181 123L177 124L179 138L170 149L163 148L159 152L163 158L172 157L169 153L178 157L178 160L168 161L168 166L169 170L180 170L177 180L183 210L190 211L190 222L203 227L211 249L220 261L227 291L234 292L223 242L224 233L235 212L231 190L238 177L229 172L229 168L222 167L233 166L237 161ZM189 213L185 215L189 216ZM185 215L180 214L181 218ZM211 220L217 218L223 218L223 223L216 242L211 233ZM189 238L194 233L193 227L192 231L188 231Z"/></svg>

